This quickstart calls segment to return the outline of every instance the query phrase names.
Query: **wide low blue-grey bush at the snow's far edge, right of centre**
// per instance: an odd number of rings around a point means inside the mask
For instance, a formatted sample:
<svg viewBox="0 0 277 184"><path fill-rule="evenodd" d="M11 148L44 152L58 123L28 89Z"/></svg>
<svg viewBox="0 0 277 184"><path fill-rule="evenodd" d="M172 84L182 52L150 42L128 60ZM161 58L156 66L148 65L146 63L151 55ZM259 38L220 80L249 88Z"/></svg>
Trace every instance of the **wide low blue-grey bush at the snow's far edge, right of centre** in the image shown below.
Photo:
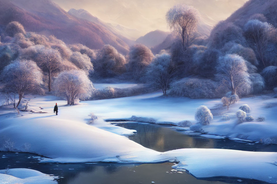
<svg viewBox="0 0 277 184"><path fill-rule="evenodd" d="M183 78L170 84L169 95L190 98L216 98L217 83L210 79Z"/></svg>

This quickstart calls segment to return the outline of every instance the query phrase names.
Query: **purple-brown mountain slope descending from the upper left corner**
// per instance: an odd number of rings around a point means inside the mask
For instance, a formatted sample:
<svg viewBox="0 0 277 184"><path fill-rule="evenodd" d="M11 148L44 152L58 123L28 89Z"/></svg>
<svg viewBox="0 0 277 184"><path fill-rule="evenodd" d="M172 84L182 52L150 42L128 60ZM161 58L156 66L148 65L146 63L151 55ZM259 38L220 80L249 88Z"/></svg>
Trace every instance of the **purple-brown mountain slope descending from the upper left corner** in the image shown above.
<svg viewBox="0 0 277 184"><path fill-rule="evenodd" d="M91 49L104 44L126 54L128 44L100 24L77 18L50 0L0 0L0 25L20 22L27 31L55 35L65 43L81 43Z"/></svg>

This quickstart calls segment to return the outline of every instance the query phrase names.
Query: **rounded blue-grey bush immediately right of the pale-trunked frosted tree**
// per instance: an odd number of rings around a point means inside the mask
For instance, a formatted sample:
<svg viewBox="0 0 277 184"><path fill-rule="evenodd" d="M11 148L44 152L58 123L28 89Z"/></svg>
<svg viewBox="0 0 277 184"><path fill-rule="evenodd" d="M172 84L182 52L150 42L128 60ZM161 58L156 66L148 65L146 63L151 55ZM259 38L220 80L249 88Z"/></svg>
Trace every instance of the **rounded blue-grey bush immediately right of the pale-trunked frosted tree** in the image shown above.
<svg viewBox="0 0 277 184"><path fill-rule="evenodd" d="M259 94L265 89L265 80L260 74L249 74L249 79L251 81L251 91L253 94Z"/></svg>

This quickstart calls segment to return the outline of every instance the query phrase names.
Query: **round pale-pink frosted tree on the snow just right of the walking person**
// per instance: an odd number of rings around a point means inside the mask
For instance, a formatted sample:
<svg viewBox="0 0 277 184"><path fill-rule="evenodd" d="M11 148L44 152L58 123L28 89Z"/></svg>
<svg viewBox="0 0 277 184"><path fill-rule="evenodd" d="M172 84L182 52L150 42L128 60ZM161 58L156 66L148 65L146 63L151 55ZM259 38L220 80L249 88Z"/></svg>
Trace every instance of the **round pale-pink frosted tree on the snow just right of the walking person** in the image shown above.
<svg viewBox="0 0 277 184"><path fill-rule="evenodd" d="M61 72L54 81L55 93L74 105L76 99L87 99L95 90L87 74L82 70Z"/></svg>

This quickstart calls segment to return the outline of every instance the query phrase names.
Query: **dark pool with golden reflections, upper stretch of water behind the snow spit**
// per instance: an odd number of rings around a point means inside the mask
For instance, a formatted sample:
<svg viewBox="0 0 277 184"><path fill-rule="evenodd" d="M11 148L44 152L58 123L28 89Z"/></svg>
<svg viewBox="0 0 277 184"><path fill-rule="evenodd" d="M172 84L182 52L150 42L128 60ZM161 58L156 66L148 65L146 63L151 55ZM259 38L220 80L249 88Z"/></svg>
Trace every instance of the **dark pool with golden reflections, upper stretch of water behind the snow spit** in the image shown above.
<svg viewBox="0 0 277 184"><path fill-rule="evenodd" d="M217 148L256 152L277 152L277 145L249 143L244 141L233 141L230 139L207 139L200 136L187 135L178 130L178 127L163 124L149 123L119 123L117 126L137 131L129 139L143 145L144 147L166 152L181 148Z"/></svg>

